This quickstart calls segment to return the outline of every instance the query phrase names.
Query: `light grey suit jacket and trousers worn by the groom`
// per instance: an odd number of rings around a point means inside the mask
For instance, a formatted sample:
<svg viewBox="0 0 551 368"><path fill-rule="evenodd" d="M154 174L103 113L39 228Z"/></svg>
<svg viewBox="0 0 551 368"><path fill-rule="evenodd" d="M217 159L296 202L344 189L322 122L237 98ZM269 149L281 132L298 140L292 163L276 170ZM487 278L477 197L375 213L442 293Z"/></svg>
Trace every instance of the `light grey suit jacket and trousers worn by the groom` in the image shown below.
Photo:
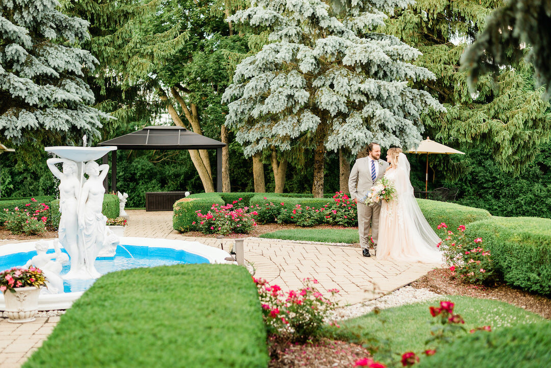
<svg viewBox="0 0 551 368"><path fill-rule="evenodd" d="M350 177L348 179L348 190L350 191L350 198L358 199L358 201L365 196L374 183L385 175L388 163L381 159L375 163L377 165L377 176L375 181L371 179L371 165L369 164L369 157L356 160L352 171L350 171ZM358 210L358 232L360 235L360 246L362 248L368 248L369 245L369 227L371 224L371 237L374 242L374 250L377 251L377 240L379 239L379 212L381 209L381 202L366 206L358 202L356 205Z"/></svg>

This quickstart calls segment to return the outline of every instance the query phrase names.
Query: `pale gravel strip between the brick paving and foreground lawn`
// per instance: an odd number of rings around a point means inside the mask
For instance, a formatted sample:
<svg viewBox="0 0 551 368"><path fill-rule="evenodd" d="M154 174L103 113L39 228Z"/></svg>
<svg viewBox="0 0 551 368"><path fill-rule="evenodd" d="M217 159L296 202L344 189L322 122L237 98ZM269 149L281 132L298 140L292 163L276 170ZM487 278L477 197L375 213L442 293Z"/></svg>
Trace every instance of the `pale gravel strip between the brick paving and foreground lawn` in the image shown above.
<svg viewBox="0 0 551 368"><path fill-rule="evenodd" d="M365 315L374 310L375 307L385 309L405 304L413 304L420 301L435 300L439 297L441 297L440 294L433 293L433 291L429 289L415 289L408 285L374 300L338 308L333 311L329 320L346 320L348 318Z"/></svg>

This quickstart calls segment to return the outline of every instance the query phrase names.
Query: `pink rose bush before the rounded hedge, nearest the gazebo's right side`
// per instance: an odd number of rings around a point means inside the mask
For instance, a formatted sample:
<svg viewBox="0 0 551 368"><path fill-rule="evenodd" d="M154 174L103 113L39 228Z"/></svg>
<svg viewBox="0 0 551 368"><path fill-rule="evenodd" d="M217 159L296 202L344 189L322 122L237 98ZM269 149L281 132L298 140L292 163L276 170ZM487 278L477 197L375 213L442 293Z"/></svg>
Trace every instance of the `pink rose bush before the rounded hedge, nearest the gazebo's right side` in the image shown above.
<svg viewBox="0 0 551 368"><path fill-rule="evenodd" d="M234 207L233 203L215 203L206 214L198 210L197 220L193 221L193 225L204 234L248 234L256 226L253 216L257 214L256 210L249 210L249 207Z"/></svg>

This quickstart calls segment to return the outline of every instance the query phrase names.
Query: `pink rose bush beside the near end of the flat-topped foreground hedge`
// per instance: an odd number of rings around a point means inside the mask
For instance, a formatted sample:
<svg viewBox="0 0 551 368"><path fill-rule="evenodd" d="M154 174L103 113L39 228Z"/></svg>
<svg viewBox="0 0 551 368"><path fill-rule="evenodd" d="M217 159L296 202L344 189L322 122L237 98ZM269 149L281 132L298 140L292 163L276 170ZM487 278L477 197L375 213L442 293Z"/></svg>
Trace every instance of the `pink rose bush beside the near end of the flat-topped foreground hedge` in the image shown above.
<svg viewBox="0 0 551 368"><path fill-rule="evenodd" d="M282 335L291 341L305 342L315 338L329 312L337 307L316 288L316 279L304 279L300 290L287 293L278 285L268 285L264 279L253 278L253 281L258 289L268 333ZM327 291L331 296L338 293L336 289Z"/></svg>

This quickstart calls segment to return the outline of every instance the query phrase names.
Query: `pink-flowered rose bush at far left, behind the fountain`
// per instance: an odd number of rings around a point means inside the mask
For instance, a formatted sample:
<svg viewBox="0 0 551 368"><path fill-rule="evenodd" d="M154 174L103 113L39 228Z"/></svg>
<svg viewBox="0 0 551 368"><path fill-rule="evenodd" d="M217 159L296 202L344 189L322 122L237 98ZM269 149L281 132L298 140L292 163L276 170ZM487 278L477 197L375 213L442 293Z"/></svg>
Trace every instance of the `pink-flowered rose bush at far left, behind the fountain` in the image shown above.
<svg viewBox="0 0 551 368"><path fill-rule="evenodd" d="M45 203L37 203L31 198L30 203L23 207L15 207L12 211L4 208L4 225L12 234L36 235L46 231L47 212L50 207Z"/></svg>

